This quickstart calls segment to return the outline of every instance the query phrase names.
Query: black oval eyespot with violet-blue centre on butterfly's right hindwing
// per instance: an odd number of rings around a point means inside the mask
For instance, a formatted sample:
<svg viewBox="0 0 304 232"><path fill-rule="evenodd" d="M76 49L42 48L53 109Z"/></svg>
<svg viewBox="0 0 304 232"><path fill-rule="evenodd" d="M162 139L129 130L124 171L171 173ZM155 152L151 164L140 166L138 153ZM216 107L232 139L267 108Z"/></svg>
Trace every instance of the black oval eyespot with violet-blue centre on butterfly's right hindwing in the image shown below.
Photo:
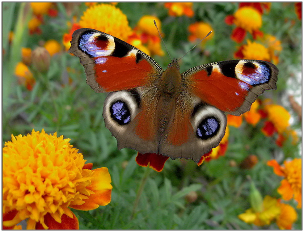
<svg viewBox="0 0 304 232"><path fill-rule="evenodd" d="M220 129L220 124L215 117L207 117L201 121L196 129L196 136L206 140L214 137Z"/></svg>

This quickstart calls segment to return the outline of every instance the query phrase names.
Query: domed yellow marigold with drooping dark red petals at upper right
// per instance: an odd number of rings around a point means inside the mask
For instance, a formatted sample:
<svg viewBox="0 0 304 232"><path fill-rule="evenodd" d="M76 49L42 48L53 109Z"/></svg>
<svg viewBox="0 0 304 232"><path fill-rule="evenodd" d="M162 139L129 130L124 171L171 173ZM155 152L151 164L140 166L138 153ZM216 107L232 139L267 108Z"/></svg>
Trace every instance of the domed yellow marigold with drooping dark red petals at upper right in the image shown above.
<svg viewBox="0 0 304 232"><path fill-rule="evenodd" d="M244 40L246 31L252 34L253 39L263 36L263 33L259 30L262 27L262 17L259 11L250 6L241 7L234 15L228 15L225 22L228 25L234 23L237 26L231 35L231 39L237 43L241 43Z"/></svg>

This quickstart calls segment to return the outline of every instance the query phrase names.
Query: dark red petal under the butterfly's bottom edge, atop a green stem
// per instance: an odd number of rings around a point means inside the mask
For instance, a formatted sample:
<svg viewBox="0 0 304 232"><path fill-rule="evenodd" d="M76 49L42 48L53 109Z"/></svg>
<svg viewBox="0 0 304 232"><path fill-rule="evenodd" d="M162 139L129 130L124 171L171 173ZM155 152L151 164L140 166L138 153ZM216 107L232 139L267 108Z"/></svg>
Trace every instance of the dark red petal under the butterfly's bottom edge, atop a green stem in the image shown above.
<svg viewBox="0 0 304 232"><path fill-rule="evenodd" d="M168 156L163 156L161 154L156 154L156 153L145 153L141 154L138 152L137 157L136 157L136 162L139 166L142 167L147 167L149 165L150 168L152 168L155 171L162 171L165 162L167 161L169 157Z"/></svg>

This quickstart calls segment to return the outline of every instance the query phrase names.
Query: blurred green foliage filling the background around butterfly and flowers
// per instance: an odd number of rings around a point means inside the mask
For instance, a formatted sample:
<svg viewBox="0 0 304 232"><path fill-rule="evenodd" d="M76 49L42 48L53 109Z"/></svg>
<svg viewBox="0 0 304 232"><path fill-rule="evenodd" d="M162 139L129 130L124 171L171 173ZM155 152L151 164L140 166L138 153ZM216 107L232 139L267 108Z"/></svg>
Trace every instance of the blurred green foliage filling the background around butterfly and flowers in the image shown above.
<svg viewBox="0 0 304 232"><path fill-rule="evenodd" d="M109 3L110 4L110 3ZM228 15L239 8L237 3L193 3L193 16L168 14L164 3L128 3L115 5L126 16L131 28L144 15L157 16L161 21L164 42L171 57L181 57L193 47L189 42L190 24L203 21L213 28L213 38L197 46L180 61L181 72L197 65L234 59L243 44L231 39L235 26L225 23ZM289 100L302 104L302 19L298 19L294 3L272 3L262 15L260 30L281 41L277 91L268 91L260 99L271 98L291 114L290 127L298 140L290 138L277 146L273 137L262 132L262 123L252 126L230 126L229 145L224 156L204 162L198 167L191 160L169 159L158 173L135 162L137 152L117 150L116 140L105 128L102 117L105 94L95 93L86 84L83 66L77 57L66 52L63 37L71 24L79 20L88 5L84 3L54 3L56 15L44 14L39 30L31 32L29 3L2 3L2 144L11 134L27 134L35 130L63 135L79 149L94 167L108 167L112 177L112 201L91 212L75 211L80 229L277 229L249 225L238 215L251 208L250 181L264 197L280 198L277 188L281 178L266 165L270 159L282 162L286 158L301 158L302 118ZM101 19L102 20L102 19ZM252 40L250 34L247 39ZM16 75L16 65L22 48L35 50L48 40L60 44L59 51L50 56L40 54L41 62L50 59L46 71L29 66L31 86L26 86ZM163 45L161 45L163 47ZM164 49L163 49L164 50ZM165 51L165 50L164 50ZM166 68L169 56L153 58ZM38 64L39 66L39 64ZM249 155L255 155L253 167L241 168ZM150 173L148 173L150 172ZM147 178L138 205L134 201L142 178ZM289 201L296 208L296 202ZM302 210L296 209L297 221L293 229L302 228Z"/></svg>

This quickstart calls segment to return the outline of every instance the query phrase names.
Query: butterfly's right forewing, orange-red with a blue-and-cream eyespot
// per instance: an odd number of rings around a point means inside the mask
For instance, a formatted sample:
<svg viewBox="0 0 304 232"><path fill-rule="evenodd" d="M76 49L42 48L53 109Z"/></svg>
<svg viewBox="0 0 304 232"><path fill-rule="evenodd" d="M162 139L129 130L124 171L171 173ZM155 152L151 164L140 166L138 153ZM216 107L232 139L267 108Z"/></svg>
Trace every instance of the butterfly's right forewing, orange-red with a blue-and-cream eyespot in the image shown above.
<svg viewBox="0 0 304 232"><path fill-rule="evenodd" d="M276 89L277 74L277 67L267 61L232 60L194 67L182 77L202 101L238 116L264 90Z"/></svg>

